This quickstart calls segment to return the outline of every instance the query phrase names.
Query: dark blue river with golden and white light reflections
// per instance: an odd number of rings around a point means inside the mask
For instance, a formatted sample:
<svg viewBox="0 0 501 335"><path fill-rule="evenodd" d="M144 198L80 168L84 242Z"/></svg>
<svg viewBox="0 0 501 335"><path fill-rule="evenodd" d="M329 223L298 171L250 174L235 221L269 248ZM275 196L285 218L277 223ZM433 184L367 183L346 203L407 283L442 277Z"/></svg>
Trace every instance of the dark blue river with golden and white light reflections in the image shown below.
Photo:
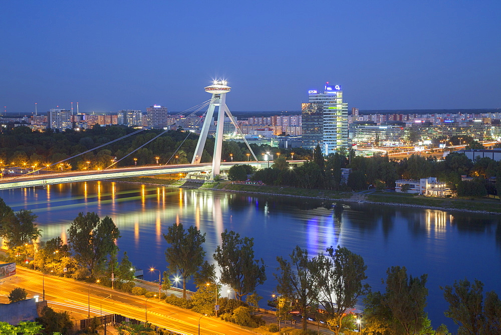
<svg viewBox="0 0 501 335"><path fill-rule="evenodd" d="M162 234L174 222L195 225L206 234L210 262L224 229L252 237L255 256L267 265L268 279L258 287L262 305L276 287L276 257L288 256L296 245L310 255L338 244L362 255L367 282L376 290L384 289L381 278L390 266L405 266L413 276L427 273L426 310L434 327L446 323L456 328L443 315L447 304L440 285L476 278L486 291L501 294L500 216L357 203L331 207L289 197L112 182L15 189L0 192L0 197L15 211L29 209L38 215L42 240L66 240L66 230L79 212L112 217L122 235L119 255L127 251L134 266L142 269L165 269ZM157 276L145 271L145 279Z"/></svg>

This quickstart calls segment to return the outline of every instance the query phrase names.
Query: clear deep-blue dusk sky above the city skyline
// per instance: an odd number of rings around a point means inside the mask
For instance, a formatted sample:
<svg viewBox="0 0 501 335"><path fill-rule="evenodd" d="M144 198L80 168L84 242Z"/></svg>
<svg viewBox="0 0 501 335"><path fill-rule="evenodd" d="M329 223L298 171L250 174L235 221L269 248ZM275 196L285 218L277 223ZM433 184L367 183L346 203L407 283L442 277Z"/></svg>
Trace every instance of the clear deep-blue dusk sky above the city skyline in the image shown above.
<svg viewBox="0 0 501 335"><path fill-rule="evenodd" d="M2 112L182 111L224 78L231 111L501 107L501 1L0 2ZM74 105L76 108L76 105Z"/></svg>

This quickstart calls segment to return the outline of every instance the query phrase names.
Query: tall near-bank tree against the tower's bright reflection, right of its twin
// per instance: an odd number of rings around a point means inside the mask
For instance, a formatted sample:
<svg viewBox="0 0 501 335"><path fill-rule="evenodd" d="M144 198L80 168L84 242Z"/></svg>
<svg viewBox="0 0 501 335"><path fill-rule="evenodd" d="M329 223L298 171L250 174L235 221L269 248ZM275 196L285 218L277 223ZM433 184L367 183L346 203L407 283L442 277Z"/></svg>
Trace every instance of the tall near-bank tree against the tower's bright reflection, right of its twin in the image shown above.
<svg viewBox="0 0 501 335"><path fill-rule="evenodd" d="M324 262L319 280L321 289L320 303L324 306L327 317L335 319L335 324L342 325L346 310L354 308L358 297L369 291L368 284L362 284L367 279L362 256L354 254L347 248L332 246L327 248L330 257L319 259ZM331 328L336 335L342 330L341 327Z"/></svg>

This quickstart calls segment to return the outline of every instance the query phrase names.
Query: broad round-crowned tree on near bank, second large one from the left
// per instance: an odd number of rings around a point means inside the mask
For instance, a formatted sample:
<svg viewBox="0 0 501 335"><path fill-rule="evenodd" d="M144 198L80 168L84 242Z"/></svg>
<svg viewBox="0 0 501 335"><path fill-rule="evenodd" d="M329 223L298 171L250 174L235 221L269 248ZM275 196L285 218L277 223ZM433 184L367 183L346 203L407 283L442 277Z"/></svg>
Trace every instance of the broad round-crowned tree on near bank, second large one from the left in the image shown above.
<svg viewBox="0 0 501 335"><path fill-rule="evenodd" d="M106 216L100 221L94 212L79 213L68 229L68 244L77 261L88 267L91 275L104 265L118 238L120 231L113 220Z"/></svg>

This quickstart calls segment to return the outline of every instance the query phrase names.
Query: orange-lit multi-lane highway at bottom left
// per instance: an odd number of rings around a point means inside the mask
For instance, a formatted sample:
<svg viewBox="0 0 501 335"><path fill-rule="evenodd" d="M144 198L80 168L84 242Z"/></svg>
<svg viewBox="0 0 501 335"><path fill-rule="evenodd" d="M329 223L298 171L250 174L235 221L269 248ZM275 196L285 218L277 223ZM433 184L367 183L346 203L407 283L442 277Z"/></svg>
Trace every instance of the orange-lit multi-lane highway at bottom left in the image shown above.
<svg viewBox="0 0 501 335"><path fill-rule="evenodd" d="M0 302L8 301L6 295L15 287L25 288L28 297L38 295L43 298L43 274L38 271L16 267L16 275L4 278L0 285ZM237 325L220 321L213 317L167 305L157 298L134 296L111 290L95 283L86 283L69 278L45 275L45 298L49 306L60 309L79 310L82 318L87 317L90 298L91 316L99 316L101 306L103 314L116 313L126 317L145 320L147 307L148 322L157 326L184 334L198 334L200 319L200 334L253 334L254 332L240 328ZM109 297L111 294L111 297Z"/></svg>

